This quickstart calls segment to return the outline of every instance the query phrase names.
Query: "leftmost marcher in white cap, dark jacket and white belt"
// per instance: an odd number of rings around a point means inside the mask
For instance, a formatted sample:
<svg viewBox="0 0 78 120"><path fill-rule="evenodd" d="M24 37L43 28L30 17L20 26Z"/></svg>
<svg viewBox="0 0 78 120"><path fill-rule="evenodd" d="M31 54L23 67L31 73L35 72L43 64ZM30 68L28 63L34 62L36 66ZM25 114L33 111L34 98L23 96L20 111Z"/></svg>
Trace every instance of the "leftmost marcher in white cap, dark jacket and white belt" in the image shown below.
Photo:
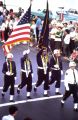
<svg viewBox="0 0 78 120"><path fill-rule="evenodd" d="M16 78L16 65L15 62L12 61L13 54L8 53L6 62L3 64L2 72L4 73L4 86L2 91L2 96L4 97L5 92L7 92L10 86L10 102L13 102L14 97L14 84Z"/></svg>

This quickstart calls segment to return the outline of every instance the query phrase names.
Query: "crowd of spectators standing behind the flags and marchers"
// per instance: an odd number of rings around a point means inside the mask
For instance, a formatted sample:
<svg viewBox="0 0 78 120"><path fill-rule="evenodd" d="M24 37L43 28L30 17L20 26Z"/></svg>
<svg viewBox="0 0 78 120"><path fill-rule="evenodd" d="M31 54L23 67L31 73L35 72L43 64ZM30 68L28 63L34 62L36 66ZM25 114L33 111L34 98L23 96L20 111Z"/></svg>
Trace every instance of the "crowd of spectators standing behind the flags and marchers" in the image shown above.
<svg viewBox="0 0 78 120"><path fill-rule="evenodd" d="M17 25L24 10L20 7L17 13L13 9L7 10L6 5L0 2L0 39L7 41L14 26ZM31 19L31 41L39 44L39 38L44 21L36 16ZM53 19L49 23L49 46L51 51L60 49L68 57L78 47L78 21L59 21Z"/></svg>

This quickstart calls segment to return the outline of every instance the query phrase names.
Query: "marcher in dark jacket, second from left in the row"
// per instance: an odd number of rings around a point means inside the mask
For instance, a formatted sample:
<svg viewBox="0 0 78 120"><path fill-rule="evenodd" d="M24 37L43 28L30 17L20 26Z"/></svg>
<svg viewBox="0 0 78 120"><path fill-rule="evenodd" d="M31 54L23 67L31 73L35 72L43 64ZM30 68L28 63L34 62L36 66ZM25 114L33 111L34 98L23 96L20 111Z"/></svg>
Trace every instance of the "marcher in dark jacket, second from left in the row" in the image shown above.
<svg viewBox="0 0 78 120"><path fill-rule="evenodd" d="M20 94L20 90L27 85L27 98L31 99L33 70L28 57L29 52L29 49L23 51L23 57L21 58L21 84L18 85L17 93Z"/></svg>

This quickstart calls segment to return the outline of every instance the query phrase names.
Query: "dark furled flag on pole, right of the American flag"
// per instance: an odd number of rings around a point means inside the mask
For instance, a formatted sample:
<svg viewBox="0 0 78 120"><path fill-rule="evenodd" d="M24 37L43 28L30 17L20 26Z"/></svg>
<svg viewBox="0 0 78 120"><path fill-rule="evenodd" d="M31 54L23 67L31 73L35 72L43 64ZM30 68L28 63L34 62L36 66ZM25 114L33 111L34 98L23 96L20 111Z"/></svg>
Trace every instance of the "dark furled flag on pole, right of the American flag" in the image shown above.
<svg viewBox="0 0 78 120"><path fill-rule="evenodd" d="M49 8L48 8L48 1L47 1L47 8L44 17L43 27L40 35L39 40L39 47L47 47L49 42Z"/></svg>

